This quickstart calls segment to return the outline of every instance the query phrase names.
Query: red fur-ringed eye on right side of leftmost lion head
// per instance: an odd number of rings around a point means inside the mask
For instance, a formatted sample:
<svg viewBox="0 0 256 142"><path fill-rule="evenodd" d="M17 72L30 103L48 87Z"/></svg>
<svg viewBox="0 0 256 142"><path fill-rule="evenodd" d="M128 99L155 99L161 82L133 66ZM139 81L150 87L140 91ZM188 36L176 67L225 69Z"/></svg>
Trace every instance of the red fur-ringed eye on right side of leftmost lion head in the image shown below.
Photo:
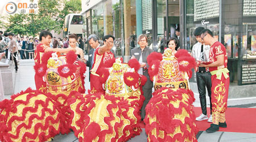
<svg viewBox="0 0 256 142"><path fill-rule="evenodd" d="M67 72L65 72L65 69L67 69ZM65 77L67 78L68 76L71 76L73 73L76 72L76 66L73 64L65 64L65 65L61 65L58 68L58 73L60 74L61 77Z"/></svg>

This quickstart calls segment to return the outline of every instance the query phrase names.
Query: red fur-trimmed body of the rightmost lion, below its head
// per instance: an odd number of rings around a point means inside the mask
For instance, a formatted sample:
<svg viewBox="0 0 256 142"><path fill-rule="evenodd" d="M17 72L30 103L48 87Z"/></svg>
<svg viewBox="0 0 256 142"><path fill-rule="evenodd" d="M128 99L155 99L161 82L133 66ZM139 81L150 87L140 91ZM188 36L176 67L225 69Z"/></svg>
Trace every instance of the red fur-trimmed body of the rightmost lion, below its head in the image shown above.
<svg viewBox="0 0 256 142"><path fill-rule="evenodd" d="M187 95L188 96L187 96ZM154 97L150 99L146 106L146 118L144 123L146 123L146 133L150 140L152 141L189 141L196 140L195 135L198 131L195 124L195 114L192 111L192 103L195 101L193 98L193 92L191 90L177 89L176 91L168 89L167 87L162 87L156 90L153 94ZM170 101L179 103L179 106L175 106L170 103ZM185 122L176 118L176 114L181 114L185 110L188 116L184 119ZM152 121L151 118L156 118ZM151 119L151 122L150 122ZM187 125L191 128L188 131ZM175 128L180 127L181 132L176 133L174 136L168 134L174 133ZM156 130L156 137L151 135L151 131ZM159 137L159 131L164 131L163 139ZM183 135L181 135L183 133Z"/></svg>

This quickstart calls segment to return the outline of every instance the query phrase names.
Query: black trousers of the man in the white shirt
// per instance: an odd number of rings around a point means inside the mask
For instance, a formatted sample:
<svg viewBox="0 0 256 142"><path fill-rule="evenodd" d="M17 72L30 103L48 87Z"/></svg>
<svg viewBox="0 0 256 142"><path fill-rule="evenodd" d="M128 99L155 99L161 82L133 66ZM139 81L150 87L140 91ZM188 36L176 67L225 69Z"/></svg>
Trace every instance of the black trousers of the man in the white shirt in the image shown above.
<svg viewBox="0 0 256 142"><path fill-rule="evenodd" d="M207 115L207 101L206 101L206 89L207 87L208 96L210 98L210 114L212 114L212 98L210 95L212 94L211 87L212 87L212 80L210 79L211 74L210 72L197 72L196 73L196 82L197 82L197 88L199 91L199 98L200 98L200 104L202 113L204 115Z"/></svg>

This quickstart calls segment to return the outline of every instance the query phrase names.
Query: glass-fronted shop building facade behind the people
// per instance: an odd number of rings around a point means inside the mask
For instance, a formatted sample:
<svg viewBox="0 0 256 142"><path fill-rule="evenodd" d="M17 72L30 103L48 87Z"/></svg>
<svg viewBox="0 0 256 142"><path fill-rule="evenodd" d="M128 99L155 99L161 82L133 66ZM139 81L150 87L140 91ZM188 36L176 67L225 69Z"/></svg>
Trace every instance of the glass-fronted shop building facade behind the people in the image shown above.
<svg viewBox="0 0 256 142"><path fill-rule="evenodd" d="M179 28L180 47L191 51L196 27L209 28L228 52L230 81L256 83L255 0L82 0L81 14L86 37L114 35L115 56L125 61L141 34L160 52Z"/></svg>

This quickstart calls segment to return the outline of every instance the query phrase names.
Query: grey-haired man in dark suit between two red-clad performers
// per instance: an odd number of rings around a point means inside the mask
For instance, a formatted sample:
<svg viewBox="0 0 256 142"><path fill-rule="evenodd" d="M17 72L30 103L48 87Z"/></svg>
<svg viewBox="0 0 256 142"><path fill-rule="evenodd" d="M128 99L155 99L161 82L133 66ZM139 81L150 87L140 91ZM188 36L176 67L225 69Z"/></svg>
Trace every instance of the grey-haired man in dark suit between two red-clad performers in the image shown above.
<svg viewBox="0 0 256 142"><path fill-rule="evenodd" d="M90 81L90 70L92 69L93 61L94 61L94 53L96 51L96 48L100 47L100 43L98 42L98 36L97 35L90 35L88 37L88 40L90 47L89 51L89 57L88 60L86 61L86 66L89 67L89 81Z"/></svg>

